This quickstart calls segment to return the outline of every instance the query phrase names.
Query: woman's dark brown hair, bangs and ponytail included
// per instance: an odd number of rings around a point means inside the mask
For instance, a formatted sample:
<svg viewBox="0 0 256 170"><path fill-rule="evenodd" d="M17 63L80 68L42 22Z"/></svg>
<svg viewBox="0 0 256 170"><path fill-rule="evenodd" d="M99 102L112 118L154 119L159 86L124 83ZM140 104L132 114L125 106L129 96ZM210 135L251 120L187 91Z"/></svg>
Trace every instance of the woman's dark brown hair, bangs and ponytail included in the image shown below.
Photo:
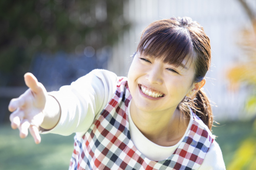
<svg viewBox="0 0 256 170"><path fill-rule="evenodd" d="M137 47L137 52L142 51L175 66L192 58L195 68L193 83L201 82L210 69L210 39L203 27L189 17L158 20L150 24L143 31ZM196 96L185 97L179 104L179 109L189 116L186 105L211 129L213 116L210 101L202 89Z"/></svg>

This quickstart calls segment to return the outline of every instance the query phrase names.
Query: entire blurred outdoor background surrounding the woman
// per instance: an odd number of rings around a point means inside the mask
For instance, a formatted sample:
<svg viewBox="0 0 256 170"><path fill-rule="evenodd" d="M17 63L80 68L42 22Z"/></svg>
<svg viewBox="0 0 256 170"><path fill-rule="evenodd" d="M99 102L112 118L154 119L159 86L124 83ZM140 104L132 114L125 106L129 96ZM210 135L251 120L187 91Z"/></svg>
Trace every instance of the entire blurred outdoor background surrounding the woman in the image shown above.
<svg viewBox="0 0 256 170"><path fill-rule="evenodd" d="M210 37L212 129L226 168L256 170L255 0L1 0L0 170L68 169L73 151L74 135L36 145L11 129L7 106L26 90L26 72L48 91L95 68L126 75L141 31L173 16L192 17Z"/></svg>

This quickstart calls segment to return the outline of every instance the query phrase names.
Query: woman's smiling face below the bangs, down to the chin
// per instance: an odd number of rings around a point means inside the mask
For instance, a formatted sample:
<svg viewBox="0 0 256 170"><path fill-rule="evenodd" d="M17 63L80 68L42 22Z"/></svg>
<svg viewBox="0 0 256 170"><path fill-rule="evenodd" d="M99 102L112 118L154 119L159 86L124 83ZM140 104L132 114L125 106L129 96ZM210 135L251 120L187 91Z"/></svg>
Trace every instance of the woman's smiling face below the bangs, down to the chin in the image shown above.
<svg viewBox="0 0 256 170"><path fill-rule="evenodd" d="M191 61L175 67L143 53L136 54L128 72L128 85L137 109L144 112L175 110L189 95L194 76Z"/></svg>

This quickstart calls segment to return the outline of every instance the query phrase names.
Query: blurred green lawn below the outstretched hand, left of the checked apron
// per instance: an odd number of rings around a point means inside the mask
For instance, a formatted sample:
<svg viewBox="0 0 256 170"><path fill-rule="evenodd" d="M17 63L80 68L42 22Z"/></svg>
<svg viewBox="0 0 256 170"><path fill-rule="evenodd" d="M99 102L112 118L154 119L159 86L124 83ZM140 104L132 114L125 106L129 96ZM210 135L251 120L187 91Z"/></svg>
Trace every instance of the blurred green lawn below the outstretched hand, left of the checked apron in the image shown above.
<svg viewBox="0 0 256 170"><path fill-rule="evenodd" d="M0 126L0 170L67 170L74 135L41 135L37 145L31 135L19 138L18 130Z"/></svg>

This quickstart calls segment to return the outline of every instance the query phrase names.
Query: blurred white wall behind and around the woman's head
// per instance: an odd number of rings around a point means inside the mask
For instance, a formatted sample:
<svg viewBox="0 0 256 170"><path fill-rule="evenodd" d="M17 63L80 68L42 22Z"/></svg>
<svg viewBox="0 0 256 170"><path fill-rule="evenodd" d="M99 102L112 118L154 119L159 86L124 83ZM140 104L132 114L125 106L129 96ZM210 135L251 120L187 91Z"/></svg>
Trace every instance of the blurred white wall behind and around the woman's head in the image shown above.
<svg viewBox="0 0 256 170"><path fill-rule="evenodd" d="M246 0L256 11L256 0ZM212 65L207 73L205 91L216 103L217 121L243 117L246 89L228 90L225 70L243 54L238 47L238 32L251 27L249 18L238 0L129 0L124 5L124 18L132 23L129 31L119 36L108 69L126 76L130 55L136 51L141 32L154 20L170 17L191 17L199 22L210 37Z"/></svg>

